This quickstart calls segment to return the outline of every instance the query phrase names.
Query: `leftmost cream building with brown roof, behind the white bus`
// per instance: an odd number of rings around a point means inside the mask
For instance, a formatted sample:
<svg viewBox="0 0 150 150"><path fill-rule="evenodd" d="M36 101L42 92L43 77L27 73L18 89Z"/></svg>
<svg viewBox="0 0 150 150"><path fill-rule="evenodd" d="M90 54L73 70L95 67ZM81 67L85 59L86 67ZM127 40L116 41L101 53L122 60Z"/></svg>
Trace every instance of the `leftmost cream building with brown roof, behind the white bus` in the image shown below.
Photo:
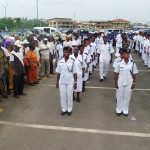
<svg viewBox="0 0 150 150"><path fill-rule="evenodd" d="M74 27L74 22L70 18L52 18L49 19L49 27L71 29Z"/></svg>

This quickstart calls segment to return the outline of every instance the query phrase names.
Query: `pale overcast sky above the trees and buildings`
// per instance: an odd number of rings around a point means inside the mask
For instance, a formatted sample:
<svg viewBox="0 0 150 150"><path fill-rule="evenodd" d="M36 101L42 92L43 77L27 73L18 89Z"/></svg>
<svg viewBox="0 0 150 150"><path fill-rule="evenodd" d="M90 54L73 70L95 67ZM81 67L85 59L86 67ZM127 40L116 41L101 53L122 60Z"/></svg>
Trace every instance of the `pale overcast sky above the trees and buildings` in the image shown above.
<svg viewBox="0 0 150 150"><path fill-rule="evenodd" d="M77 21L127 19L150 22L150 0L38 0L39 18L69 17ZM0 0L0 17L36 18L36 0Z"/></svg>

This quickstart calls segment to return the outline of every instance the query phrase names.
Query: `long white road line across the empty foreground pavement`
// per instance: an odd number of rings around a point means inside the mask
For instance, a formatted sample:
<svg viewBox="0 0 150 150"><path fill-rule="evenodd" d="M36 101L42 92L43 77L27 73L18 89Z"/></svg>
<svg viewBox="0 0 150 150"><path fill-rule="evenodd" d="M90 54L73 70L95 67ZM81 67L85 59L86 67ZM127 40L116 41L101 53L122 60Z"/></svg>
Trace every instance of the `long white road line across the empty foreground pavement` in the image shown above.
<svg viewBox="0 0 150 150"><path fill-rule="evenodd" d="M150 138L149 133L120 132L120 131L61 127L61 126L35 125L35 124L13 123L13 122L7 122L7 121L0 121L0 125L23 127L23 128L34 128L34 129L44 129L44 130L56 130L56 131L69 131L69 132L92 133L92 134L103 134L103 135L119 135L119 136Z"/></svg>

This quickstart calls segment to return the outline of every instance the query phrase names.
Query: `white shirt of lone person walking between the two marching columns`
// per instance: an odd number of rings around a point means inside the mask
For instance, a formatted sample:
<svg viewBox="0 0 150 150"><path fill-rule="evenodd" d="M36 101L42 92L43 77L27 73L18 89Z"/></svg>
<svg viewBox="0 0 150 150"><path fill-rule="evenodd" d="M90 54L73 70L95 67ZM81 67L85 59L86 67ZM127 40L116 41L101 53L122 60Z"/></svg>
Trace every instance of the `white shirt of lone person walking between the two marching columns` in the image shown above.
<svg viewBox="0 0 150 150"><path fill-rule="evenodd" d="M100 54L100 60L109 60L111 58L111 54L114 53L114 49L112 44L102 44L99 49L97 50L97 53Z"/></svg>

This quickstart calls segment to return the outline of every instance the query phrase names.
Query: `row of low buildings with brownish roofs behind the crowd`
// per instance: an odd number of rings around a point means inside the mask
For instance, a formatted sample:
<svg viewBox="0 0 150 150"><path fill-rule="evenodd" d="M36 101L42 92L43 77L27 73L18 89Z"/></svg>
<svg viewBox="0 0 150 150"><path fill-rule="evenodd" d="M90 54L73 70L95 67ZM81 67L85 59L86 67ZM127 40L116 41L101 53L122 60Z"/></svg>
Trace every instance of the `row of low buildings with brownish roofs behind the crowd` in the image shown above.
<svg viewBox="0 0 150 150"><path fill-rule="evenodd" d="M92 29L104 31L105 29L123 30L131 26L131 22L124 19L115 19L107 21L80 21L74 22L70 18L52 18L49 19L49 26L59 29Z"/></svg>

